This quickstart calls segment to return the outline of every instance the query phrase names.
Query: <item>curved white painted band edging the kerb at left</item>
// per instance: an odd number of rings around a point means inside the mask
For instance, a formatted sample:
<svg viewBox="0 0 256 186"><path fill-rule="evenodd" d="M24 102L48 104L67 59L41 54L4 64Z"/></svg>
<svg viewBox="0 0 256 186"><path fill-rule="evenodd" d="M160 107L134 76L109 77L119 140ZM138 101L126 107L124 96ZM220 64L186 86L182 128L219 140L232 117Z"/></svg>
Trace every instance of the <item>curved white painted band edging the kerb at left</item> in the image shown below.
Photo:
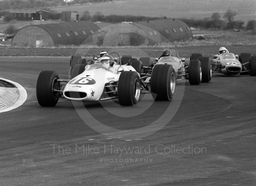
<svg viewBox="0 0 256 186"><path fill-rule="evenodd" d="M19 91L18 101L14 105L0 111L0 113L1 112L7 112L7 111L10 111L12 109L15 109L15 108L19 107L20 105L22 105L27 100L27 97L28 97L27 91L19 83L16 83L14 81L7 80L7 79L4 79L4 78L0 78L0 80L4 80L4 81L7 81L7 82L10 82L10 83L14 84L18 88L18 91Z"/></svg>

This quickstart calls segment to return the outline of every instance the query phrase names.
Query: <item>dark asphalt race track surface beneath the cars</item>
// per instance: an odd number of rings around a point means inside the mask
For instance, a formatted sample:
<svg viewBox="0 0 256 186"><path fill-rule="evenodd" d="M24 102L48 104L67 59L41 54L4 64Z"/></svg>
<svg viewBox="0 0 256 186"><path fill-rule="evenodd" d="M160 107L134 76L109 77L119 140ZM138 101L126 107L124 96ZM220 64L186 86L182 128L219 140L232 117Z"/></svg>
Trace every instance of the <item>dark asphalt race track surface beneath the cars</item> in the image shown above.
<svg viewBox="0 0 256 186"><path fill-rule="evenodd" d="M38 105L40 71L68 79L68 69L69 58L0 57L1 77L28 93L23 105L0 113L0 185L256 184L256 77L213 74L198 86L179 82L171 102L179 109L167 125L126 141L90 128L71 101ZM175 105L180 95L181 104ZM157 120L170 105L152 98L151 103L145 112L129 110L126 117L105 109L112 101L84 108L109 127L132 130ZM129 147L132 153L125 152Z"/></svg>

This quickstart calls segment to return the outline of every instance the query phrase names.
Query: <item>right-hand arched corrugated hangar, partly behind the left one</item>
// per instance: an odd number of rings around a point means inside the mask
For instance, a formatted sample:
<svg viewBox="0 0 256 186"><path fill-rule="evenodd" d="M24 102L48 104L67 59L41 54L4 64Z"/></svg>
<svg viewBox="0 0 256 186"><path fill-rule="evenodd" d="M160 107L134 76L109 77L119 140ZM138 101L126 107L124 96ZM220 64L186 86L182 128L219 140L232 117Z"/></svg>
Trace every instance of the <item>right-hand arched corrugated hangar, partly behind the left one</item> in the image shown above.
<svg viewBox="0 0 256 186"><path fill-rule="evenodd" d="M179 19L120 23L106 30L104 46L153 45L193 38L188 25Z"/></svg>

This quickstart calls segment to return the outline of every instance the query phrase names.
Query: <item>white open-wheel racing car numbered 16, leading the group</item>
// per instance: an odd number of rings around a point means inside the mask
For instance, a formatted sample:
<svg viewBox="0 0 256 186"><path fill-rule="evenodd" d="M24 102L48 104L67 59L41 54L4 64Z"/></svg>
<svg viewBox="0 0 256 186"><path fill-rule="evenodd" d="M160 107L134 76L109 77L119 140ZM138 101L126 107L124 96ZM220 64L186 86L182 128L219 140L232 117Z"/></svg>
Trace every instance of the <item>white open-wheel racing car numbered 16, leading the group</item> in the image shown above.
<svg viewBox="0 0 256 186"><path fill-rule="evenodd" d="M90 102L117 98L122 106L135 106L140 100L140 94L151 93L145 86L144 79L147 77L140 78L133 66L121 64L119 53L113 53L119 56L119 64L112 61L108 68L99 63L77 64L72 69L71 80L60 80L55 71L42 71L36 84L39 105L55 106L59 98ZM161 79L152 78L151 89L161 89L160 99L158 96L157 100L170 101L176 85L175 70L169 64L157 66L159 68L153 69L152 75L161 74Z"/></svg>

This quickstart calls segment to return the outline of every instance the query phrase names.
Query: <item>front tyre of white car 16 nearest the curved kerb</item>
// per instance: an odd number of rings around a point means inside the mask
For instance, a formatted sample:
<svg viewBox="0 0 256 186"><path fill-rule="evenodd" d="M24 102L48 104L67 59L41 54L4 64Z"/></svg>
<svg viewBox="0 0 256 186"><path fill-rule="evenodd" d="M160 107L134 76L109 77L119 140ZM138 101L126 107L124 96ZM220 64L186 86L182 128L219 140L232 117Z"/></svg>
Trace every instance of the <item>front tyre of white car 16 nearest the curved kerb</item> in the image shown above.
<svg viewBox="0 0 256 186"><path fill-rule="evenodd" d="M59 75L55 71L42 71L36 82L36 97L41 106L55 106L59 100Z"/></svg>

